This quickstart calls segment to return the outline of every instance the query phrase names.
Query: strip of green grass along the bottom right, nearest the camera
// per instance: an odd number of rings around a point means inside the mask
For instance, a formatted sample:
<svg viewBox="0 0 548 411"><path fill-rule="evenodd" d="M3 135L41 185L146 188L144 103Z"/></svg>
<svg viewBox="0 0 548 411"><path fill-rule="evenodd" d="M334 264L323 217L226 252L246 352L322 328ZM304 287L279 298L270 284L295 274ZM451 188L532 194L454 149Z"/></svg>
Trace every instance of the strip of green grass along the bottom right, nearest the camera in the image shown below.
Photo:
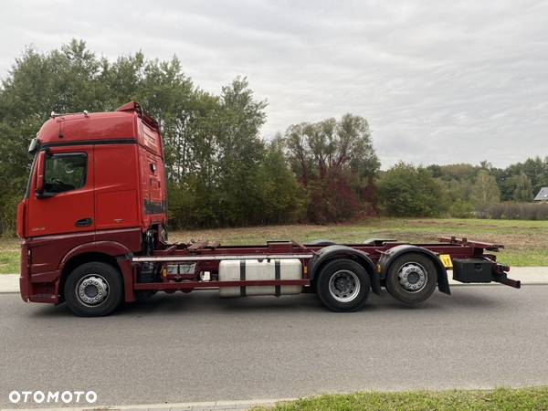
<svg viewBox="0 0 548 411"><path fill-rule="evenodd" d="M548 410L548 387L492 391L414 391L404 393L357 393L320 395L280 403L274 411L529 411Z"/></svg>

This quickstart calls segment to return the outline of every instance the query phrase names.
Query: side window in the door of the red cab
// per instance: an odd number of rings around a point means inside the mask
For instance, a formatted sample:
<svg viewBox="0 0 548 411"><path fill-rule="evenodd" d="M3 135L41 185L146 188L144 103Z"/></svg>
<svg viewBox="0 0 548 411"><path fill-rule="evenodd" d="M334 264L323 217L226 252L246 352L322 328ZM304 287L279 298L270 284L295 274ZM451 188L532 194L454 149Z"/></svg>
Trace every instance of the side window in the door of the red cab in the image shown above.
<svg viewBox="0 0 548 411"><path fill-rule="evenodd" d="M59 153L47 155L44 167L44 191L64 193L86 184L88 155L86 153Z"/></svg>

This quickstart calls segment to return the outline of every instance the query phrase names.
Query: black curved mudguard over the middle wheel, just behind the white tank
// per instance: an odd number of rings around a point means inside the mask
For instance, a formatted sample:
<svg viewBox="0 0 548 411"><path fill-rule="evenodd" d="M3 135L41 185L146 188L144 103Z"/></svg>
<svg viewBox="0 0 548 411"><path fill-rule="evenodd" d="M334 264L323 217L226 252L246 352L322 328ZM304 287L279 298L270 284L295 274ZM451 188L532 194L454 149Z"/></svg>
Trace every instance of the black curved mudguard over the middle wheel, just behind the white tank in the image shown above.
<svg viewBox="0 0 548 411"><path fill-rule="evenodd" d="M313 258L311 258L309 263L309 278L311 281L313 282L314 277L318 272L320 272L322 267L337 258L350 258L364 267L367 274L369 274L371 289L373 292L375 294L379 294L381 292L381 279L377 275L372 259L369 258L369 255L363 251L347 246L332 245L321 248L321 250L318 251Z"/></svg>

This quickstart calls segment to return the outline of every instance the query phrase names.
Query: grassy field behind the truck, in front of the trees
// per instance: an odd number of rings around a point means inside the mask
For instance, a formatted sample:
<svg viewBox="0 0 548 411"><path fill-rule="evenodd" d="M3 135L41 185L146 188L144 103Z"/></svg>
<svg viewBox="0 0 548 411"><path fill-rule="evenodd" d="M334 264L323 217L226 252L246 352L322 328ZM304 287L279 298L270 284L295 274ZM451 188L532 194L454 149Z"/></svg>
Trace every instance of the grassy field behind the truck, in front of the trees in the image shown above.
<svg viewBox="0 0 548 411"><path fill-rule="evenodd" d="M479 220L453 218L374 218L335 226L267 226L187 230L170 233L170 241L216 239L223 244L264 244L269 239L314 239L360 243L369 237L428 242L437 237L468 237L504 244L499 260L514 267L548 266L548 221ZM0 242L0 274L18 272L19 242Z"/></svg>

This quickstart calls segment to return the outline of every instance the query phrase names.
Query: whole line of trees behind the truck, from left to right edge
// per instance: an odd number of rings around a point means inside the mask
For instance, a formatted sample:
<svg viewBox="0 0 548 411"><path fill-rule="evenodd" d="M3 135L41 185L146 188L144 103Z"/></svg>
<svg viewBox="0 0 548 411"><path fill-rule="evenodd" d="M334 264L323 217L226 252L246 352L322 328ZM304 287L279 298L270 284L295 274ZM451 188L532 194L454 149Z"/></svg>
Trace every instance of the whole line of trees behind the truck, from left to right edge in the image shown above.
<svg viewBox="0 0 548 411"><path fill-rule="evenodd" d="M465 216L500 201L529 201L548 185L548 159L540 158L506 169L398 163L382 172L369 124L353 114L293 124L267 140L260 134L267 103L246 78L210 93L178 58L138 52L109 60L72 40L47 53L27 48L2 80L1 232L14 232L31 163L26 147L49 113L112 111L130 100L163 132L175 228Z"/></svg>

